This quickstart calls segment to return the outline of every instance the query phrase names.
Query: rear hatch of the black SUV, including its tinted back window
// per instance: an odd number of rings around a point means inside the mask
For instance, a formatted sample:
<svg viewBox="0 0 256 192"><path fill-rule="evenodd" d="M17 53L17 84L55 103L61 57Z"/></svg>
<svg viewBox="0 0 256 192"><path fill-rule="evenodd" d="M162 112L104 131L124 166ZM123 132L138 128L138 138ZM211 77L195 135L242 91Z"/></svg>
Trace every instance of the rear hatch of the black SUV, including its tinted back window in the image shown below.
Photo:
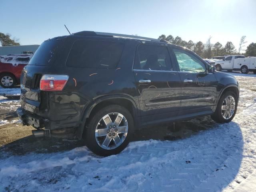
<svg viewBox="0 0 256 192"><path fill-rule="evenodd" d="M39 106L46 102L47 93L39 89L43 74L58 74L61 68L56 59L62 55L66 36L44 41L32 56L29 64L24 67L21 75L20 104L25 110L40 114ZM46 105L44 105L46 107Z"/></svg>

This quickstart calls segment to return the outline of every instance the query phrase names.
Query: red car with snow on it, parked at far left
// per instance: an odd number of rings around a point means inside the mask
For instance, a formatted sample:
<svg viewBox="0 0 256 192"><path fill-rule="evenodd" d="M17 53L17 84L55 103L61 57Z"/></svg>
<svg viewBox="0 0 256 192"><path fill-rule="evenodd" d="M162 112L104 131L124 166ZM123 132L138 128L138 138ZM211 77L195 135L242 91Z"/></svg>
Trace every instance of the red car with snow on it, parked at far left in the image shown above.
<svg viewBox="0 0 256 192"><path fill-rule="evenodd" d="M21 71L28 64L32 55L5 55L0 56L0 85L3 88L12 88L20 84Z"/></svg>

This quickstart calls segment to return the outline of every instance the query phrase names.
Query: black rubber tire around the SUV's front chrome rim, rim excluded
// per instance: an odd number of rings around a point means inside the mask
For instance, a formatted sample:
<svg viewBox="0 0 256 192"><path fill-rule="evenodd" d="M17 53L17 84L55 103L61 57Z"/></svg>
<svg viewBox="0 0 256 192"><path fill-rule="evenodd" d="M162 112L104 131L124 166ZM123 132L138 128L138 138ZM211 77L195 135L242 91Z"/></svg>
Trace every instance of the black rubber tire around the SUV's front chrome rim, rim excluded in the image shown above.
<svg viewBox="0 0 256 192"><path fill-rule="evenodd" d="M229 119L225 119L223 116L222 116L222 103L224 102L224 99L227 97L227 96L232 96L236 102L235 104L235 110L234 110L234 113L233 115L231 116L231 118ZM227 92L224 92L222 94L222 96L220 96L220 100L218 102L218 105L217 105L217 108L214 112L214 114L212 114L212 119L218 123L228 123L230 121L232 121L232 119L234 118L234 116L236 115L236 110L237 110L237 105L238 105L238 98L236 96L236 94L232 91L227 91Z"/></svg>

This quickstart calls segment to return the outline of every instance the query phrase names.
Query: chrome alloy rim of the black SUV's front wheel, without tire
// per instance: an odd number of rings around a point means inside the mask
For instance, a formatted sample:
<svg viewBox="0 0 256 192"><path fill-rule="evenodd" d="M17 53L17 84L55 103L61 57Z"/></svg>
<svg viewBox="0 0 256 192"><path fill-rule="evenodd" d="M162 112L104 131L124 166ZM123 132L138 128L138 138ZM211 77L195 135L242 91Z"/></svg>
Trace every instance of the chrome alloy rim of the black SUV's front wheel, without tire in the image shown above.
<svg viewBox="0 0 256 192"><path fill-rule="evenodd" d="M221 107L222 117L224 119L230 119L234 114L235 108L236 108L236 101L234 97L227 96L224 99Z"/></svg>

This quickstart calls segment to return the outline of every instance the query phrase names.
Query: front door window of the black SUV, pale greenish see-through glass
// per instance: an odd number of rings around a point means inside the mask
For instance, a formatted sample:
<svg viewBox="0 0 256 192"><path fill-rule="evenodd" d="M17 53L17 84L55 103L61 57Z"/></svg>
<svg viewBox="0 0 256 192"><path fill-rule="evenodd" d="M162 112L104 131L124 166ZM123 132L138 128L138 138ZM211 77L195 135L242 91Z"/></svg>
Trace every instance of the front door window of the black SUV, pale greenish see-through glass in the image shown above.
<svg viewBox="0 0 256 192"><path fill-rule="evenodd" d="M200 73L206 71L204 63L196 56L180 49L173 49L173 51L178 61L180 71L191 73Z"/></svg>

